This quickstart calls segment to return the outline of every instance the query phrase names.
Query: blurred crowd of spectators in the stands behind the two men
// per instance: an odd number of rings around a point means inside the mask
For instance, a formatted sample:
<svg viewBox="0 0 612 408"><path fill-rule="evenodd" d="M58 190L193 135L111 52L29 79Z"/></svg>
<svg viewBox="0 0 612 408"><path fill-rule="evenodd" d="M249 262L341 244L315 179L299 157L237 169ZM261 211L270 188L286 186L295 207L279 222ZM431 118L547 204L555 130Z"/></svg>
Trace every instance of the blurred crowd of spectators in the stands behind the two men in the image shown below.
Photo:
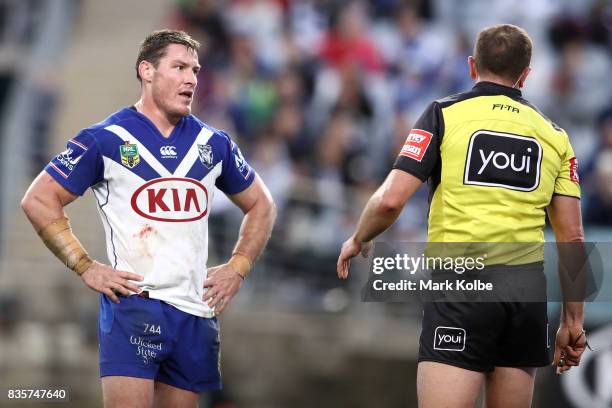
<svg viewBox="0 0 612 408"><path fill-rule="evenodd" d="M0 109L42 3L0 0ZM78 19L82 2L67 4ZM570 134L584 222L612 225L609 2L179 0L159 26L201 42L194 114L227 131L272 191L279 219L268 269L325 269L333 279L329 265L412 124L432 100L472 86L466 61L476 34L499 22L534 39L524 96ZM61 89L39 81L35 92L37 148L25 152L32 176L56 153L46 139ZM212 250L223 258L240 214L227 200L214 206ZM425 239L427 211L422 188L385 238Z"/></svg>

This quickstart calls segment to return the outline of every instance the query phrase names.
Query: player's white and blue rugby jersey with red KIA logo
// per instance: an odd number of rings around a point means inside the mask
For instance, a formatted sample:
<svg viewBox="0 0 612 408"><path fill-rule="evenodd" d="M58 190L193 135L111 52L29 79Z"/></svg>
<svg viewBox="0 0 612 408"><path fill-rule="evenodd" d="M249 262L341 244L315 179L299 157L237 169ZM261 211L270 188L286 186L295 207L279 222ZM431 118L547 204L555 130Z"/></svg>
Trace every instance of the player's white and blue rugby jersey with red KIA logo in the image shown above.
<svg viewBox="0 0 612 408"><path fill-rule="evenodd" d="M144 276L151 298L212 317L202 301L214 187L246 189L255 172L224 132L193 115L168 138L133 107L83 129L45 170L68 191L92 188L110 265Z"/></svg>

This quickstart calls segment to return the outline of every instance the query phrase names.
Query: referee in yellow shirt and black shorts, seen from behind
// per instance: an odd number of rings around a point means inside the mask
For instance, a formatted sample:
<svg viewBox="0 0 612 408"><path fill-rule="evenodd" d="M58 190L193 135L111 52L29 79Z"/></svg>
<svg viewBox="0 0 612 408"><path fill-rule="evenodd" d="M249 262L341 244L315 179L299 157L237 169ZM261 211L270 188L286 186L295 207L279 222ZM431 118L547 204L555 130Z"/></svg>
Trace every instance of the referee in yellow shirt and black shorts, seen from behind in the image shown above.
<svg viewBox="0 0 612 408"><path fill-rule="evenodd" d="M532 41L502 24L479 33L468 60L471 91L431 103L393 170L343 244L350 259L397 219L428 181L429 242L543 242L546 211L559 242L583 241L577 162L565 131L523 99ZM553 364L578 365L586 346L583 302L563 303ZM420 407L529 407L537 367L550 364L546 303L427 303L419 347ZM462 326L459 326L461 324ZM462 327L465 347L435 347L436 327Z"/></svg>

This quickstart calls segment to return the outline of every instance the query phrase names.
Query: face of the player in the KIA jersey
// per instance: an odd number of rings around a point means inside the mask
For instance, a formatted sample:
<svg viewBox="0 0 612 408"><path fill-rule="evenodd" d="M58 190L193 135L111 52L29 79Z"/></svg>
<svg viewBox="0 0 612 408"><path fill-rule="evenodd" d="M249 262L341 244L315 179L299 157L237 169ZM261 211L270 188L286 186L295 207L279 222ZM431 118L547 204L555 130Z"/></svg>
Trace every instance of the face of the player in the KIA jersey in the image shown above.
<svg viewBox="0 0 612 408"><path fill-rule="evenodd" d="M166 115L181 117L191 113L199 70L195 51L180 44L166 47L166 55L159 60L151 82L153 101Z"/></svg>

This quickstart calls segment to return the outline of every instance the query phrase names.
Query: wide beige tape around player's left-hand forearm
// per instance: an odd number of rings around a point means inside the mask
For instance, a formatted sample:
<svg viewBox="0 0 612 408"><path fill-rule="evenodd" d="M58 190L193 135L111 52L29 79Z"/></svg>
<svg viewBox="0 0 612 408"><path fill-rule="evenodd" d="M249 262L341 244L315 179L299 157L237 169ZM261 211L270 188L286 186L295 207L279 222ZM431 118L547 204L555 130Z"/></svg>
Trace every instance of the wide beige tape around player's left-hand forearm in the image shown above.
<svg viewBox="0 0 612 408"><path fill-rule="evenodd" d="M47 248L78 275L82 275L93 263L93 259L72 233L68 218L62 217L51 222L38 231L38 235Z"/></svg>

